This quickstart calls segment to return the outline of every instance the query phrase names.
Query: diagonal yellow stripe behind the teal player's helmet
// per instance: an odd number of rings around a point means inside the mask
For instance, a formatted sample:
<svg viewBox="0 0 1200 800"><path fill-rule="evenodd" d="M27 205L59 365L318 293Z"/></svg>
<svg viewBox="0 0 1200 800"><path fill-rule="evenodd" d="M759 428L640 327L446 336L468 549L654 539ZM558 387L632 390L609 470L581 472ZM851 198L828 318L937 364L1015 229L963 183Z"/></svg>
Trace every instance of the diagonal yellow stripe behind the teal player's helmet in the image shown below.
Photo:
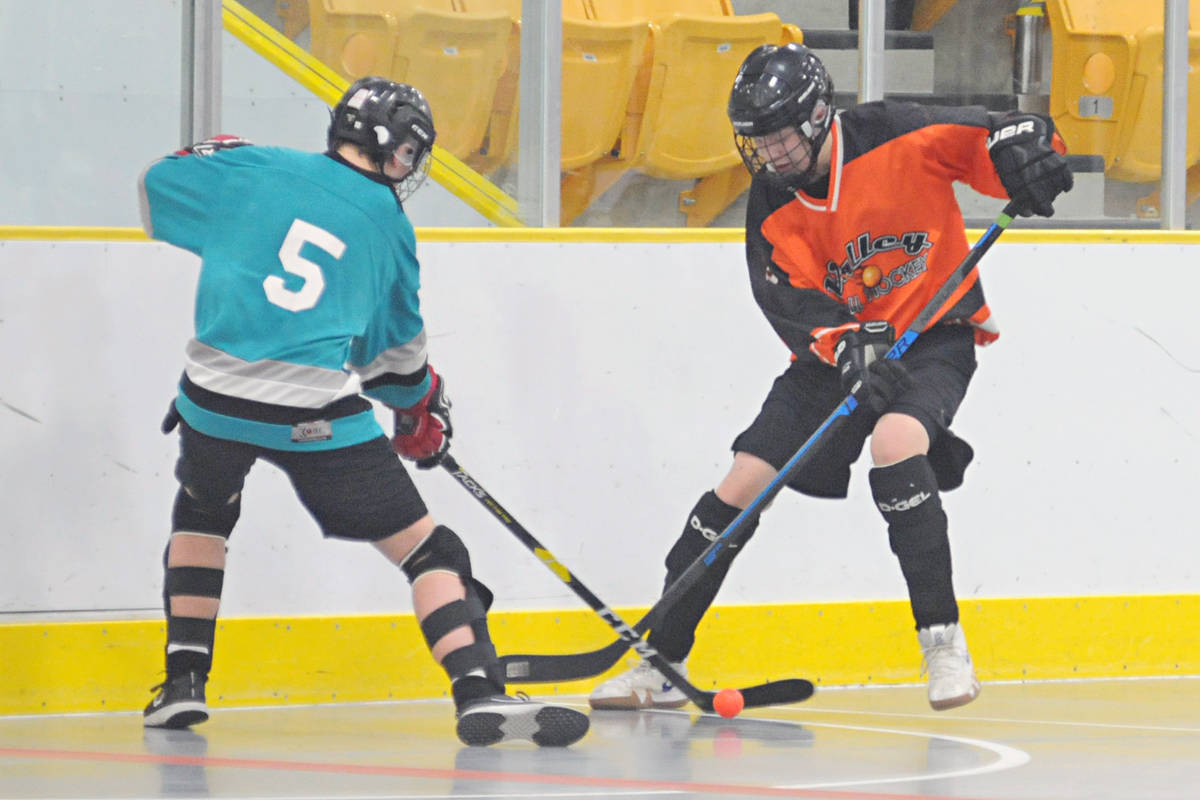
<svg viewBox="0 0 1200 800"><path fill-rule="evenodd" d="M335 106L349 86L346 78L296 47L240 2L223 0L222 20L226 30L326 104ZM517 216L516 200L438 145L433 146L430 175L496 224L524 224Z"/></svg>

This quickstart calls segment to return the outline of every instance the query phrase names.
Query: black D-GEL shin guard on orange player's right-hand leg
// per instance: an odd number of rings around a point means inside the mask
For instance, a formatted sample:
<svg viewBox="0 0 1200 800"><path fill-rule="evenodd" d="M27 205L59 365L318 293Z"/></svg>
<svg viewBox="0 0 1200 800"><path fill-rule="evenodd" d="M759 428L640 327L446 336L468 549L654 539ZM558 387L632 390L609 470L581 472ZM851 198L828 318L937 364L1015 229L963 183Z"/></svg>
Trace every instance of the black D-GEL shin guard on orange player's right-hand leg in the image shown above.
<svg viewBox="0 0 1200 800"><path fill-rule="evenodd" d="M871 494L888 523L892 552L908 584L917 627L956 622L959 604L952 581L950 540L937 493L937 477L925 456L877 467Z"/></svg>

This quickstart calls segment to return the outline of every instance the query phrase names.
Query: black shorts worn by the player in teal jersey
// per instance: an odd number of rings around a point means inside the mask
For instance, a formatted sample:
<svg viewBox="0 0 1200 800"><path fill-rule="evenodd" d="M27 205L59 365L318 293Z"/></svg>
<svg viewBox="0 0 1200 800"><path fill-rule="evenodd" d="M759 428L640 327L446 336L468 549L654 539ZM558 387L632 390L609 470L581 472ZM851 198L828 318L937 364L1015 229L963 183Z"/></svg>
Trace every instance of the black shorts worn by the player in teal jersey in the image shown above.
<svg viewBox="0 0 1200 800"><path fill-rule="evenodd" d="M428 513L385 437L336 450L270 450L203 434L182 420L179 437L175 477L202 500L224 503L241 492L262 458L283 470L324 536L377 541Z"/></svg>

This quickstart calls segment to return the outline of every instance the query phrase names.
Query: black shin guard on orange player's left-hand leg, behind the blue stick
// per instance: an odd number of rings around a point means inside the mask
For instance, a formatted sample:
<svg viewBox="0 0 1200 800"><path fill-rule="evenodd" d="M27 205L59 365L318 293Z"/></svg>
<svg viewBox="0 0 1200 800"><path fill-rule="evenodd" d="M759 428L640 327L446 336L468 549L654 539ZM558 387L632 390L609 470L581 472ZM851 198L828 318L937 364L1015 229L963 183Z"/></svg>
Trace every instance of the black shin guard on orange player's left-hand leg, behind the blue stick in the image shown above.
<svg viewBox="0 0 1200 800"><path fill-rule="evenodd" d="M667 553L667 577L662 590L666 591L684 571L700 558L701 553L721 535L731 522L742 513L742 509L716 497L715 492L706 492L688 515L679 540ZM746 541L754 535L758 519L745 523L749 527ZM648 637L649 643L671 661L683 661L696 643L696 626L704 612L713 604L716 593L725 581L730 565L740 552L740 547L724 548L709 566L704 577L696 583L679 602L670 610L666 619L656 625Z"/></svg>

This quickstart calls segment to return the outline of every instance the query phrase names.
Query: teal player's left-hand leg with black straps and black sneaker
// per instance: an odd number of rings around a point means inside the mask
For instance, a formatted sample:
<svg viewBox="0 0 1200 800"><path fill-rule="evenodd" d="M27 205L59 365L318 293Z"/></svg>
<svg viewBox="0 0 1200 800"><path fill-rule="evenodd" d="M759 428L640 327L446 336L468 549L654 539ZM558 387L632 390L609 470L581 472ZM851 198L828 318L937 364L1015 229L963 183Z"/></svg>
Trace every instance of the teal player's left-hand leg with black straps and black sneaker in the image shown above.
<svg viewBox="0 0 1200 800"><path fill-rule="evenodd" d="M208 720L204 687L212 649L226 542L241 511L241 488L254 449L180 425L175 476L180 488L163 553L167 678L146 705L148 727L186 728Z"/></svg>

